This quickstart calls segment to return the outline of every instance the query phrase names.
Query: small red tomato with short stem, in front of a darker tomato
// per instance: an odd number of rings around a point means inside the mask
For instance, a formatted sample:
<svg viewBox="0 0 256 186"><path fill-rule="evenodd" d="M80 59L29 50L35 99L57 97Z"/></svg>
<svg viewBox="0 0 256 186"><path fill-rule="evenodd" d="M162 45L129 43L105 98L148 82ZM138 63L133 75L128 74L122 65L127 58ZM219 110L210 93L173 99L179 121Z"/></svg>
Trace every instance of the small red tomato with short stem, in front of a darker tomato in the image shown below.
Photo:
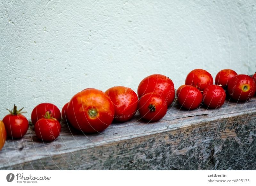
<svg viewBox="0 0 256 186"><path fill-rule="evenodd" d="M50 111L47 111L44 118L37 120L35 124L36 136L45 142L54 141L60 135L60 130L60 122L52 117Z"/></svg>

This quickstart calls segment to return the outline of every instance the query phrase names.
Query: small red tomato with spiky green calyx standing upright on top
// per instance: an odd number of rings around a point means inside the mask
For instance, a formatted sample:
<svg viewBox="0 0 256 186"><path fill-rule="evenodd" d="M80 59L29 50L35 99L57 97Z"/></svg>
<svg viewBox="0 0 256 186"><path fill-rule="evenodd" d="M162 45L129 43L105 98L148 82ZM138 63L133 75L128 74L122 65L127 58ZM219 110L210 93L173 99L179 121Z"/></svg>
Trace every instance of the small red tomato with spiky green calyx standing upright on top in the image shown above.
<svg viewBox="0 0 256 186"><path fill-rule="evenodd" d="M23 108L22 108L23 109ZM6 115L3 119L7 135L12 138L21 138L28 131L28 120L21 113L22 109L17 110L14 105L13 110L9 111L10 114Z"/></svg>

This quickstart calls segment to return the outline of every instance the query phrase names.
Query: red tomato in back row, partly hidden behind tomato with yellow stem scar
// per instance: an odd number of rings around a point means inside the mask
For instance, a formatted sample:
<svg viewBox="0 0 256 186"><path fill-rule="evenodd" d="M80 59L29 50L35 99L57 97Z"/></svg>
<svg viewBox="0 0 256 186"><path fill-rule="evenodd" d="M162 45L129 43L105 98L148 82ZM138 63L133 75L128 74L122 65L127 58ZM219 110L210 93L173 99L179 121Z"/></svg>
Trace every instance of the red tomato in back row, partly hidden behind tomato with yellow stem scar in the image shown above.
<svg viewBox="0 0 256 186"><path fill-rule="evenodd" d="M215 77L215 84L216 85L222 85L222 87L226 87L231 80L232 77L237 75L237 73L234 70L231 69L224 69L218 72L218 74Z"/></svg>

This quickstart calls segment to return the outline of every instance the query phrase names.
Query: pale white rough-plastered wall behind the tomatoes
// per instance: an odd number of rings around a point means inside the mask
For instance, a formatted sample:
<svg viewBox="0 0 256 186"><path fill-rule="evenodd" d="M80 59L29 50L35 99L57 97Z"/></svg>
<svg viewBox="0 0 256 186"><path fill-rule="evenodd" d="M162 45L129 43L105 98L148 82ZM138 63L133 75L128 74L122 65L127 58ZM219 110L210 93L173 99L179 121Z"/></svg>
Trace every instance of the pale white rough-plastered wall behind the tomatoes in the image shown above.
<svg viewBox="0 0 256 186"><path fill-rule="evenodd" d="M0 0L0 118L15 103L61 107L78 91L150 74L176 88L194 68L252 74L254 0Z"/></svg>

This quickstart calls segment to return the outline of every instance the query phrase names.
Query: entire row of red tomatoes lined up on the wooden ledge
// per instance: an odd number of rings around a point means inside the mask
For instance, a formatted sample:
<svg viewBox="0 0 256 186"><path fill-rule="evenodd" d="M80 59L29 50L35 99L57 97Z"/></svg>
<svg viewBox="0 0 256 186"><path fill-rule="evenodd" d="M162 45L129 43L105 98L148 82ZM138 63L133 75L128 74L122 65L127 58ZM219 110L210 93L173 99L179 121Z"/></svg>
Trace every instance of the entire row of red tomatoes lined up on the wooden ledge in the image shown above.
<svg viewBox="0 0 256 186"><path fill-rule="evenodd" d="M254 96L256 73L250 77L237 74L231 69L221 70L215 77L215 85L210 73L203 69L192 70L176 92L180 106L187 110L200 108L217 109L223 105L226 91L235 101L249 101ZM138 98L139 97L139 98ZM137 110L142 119L148 122L164 117L167 108L175 98L174 84L161 74L144 78L138 86L138 96L130 88L117 86L105 93L93 88L77 93L63 106L62 111L51 103L37 105L31 113L36 136L42 141L55 140L60 135L61 115L77 130L84 133L101 132L113 120L125 122L131 120ZM22 108L23 109L23 108ZM4 146L6 135L21 138L28 131L28 120L14 105L10 114L0 120L0 150Z"/></svg>

